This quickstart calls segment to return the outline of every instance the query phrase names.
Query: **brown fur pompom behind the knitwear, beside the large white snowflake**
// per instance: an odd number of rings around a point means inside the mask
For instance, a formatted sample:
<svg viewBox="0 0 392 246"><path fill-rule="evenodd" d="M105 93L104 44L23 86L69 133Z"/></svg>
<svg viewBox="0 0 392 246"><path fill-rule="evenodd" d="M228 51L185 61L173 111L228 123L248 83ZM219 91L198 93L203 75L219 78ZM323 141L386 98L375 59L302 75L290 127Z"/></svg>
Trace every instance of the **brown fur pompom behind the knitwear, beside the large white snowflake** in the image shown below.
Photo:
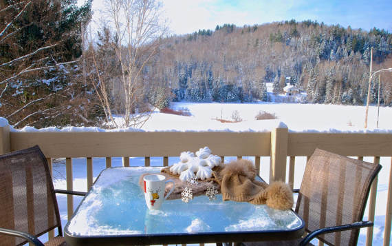
<svg viewBox="0 0 392 246"><path fill-rule="evenodd" d="M253 166L252 161L241 159L236 161L230 161L226 164L224 170L221 171L221 176L225 175L240 175L254 180L256 177L256 169Z"/></svg>

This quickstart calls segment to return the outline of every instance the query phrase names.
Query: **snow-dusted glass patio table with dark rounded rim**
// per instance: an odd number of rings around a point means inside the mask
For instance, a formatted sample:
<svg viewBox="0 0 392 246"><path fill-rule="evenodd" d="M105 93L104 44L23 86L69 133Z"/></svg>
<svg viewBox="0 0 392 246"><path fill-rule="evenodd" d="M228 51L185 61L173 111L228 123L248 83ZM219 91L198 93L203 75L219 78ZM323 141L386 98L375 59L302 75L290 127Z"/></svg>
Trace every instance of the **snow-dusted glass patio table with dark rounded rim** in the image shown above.
<svg viewBox="0 0 392 246"><path fill-rule="evenodd" d="M166 200L159 210L146 207L138 181L162 167L111 167L103 170L65 225L70 245L154 245L221 243L299 238L304 222L292 210L266 205Z"/></svg>

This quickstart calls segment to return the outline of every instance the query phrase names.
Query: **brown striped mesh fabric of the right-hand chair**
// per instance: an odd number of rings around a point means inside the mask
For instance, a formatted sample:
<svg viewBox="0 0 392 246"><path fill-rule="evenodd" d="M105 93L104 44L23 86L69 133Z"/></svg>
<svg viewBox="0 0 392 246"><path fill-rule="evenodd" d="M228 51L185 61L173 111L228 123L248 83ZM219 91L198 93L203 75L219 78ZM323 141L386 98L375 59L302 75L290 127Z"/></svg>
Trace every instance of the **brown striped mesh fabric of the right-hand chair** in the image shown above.
<svg viewBox="0 0 392 246"><path fill-rule="evenodd" d="M367 163L316 149L305 168L296 212L305 229L345 225L362 221L371 182L379 164ZM359 229L324 234L330 245L356 245Z"/></svg>

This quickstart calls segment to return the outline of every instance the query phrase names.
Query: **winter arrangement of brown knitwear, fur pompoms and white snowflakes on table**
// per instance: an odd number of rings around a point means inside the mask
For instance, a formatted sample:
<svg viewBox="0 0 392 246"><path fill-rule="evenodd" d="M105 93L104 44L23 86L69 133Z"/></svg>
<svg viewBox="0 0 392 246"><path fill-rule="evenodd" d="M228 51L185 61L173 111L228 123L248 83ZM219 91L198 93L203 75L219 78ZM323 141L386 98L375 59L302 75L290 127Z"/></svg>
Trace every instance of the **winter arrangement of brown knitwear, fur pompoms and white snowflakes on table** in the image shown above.
<svg viewBox="0 0 392 246"><path fill-rule="evenodd" d="M259 181L252 161L240 159L224 165L221 157L203 147L194 154L182 152L179 162L164 167L161 174L175 182L168 199L189 203L195 196L205 195L210 201L221 194L223 201L266 204L274 209L290 209L294 203L292 189L283 182L270 184ZM168 193L171 187L166 187Z"/></svg>

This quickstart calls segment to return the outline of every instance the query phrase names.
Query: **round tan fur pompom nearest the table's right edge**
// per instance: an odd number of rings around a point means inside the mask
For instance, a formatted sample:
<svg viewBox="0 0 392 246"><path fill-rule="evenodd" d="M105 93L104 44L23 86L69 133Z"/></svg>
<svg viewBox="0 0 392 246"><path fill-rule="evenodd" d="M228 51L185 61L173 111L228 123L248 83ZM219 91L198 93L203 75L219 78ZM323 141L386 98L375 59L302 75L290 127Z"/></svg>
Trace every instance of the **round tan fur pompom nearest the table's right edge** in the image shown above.
<svg viewBox="0 0 392 246"><path fill-rule="evenodd" d="M290 189L289 185L281 181L276 181L271 183L267 189L265 189L265 192L267 193L267 201L265 201L265 203L268 207L274 209L292 208L294 199L292 189Z"/></svg>

